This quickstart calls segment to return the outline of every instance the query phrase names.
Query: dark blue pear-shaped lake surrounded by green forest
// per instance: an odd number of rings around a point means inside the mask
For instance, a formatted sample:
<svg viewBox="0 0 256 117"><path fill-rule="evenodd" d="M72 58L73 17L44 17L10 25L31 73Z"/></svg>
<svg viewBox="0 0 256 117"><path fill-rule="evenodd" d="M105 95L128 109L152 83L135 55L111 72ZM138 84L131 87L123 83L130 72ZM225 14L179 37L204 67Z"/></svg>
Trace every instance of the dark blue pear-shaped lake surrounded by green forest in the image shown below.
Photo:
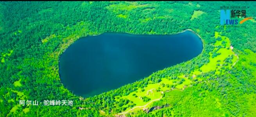
<svg viewBox="0 0 256 117"><path fill-rule="evenodd" d="M187 61L202 52L191 31L174 35L104 33L82 37L61 55L62 83L78 96L94 96Z"/></svg>

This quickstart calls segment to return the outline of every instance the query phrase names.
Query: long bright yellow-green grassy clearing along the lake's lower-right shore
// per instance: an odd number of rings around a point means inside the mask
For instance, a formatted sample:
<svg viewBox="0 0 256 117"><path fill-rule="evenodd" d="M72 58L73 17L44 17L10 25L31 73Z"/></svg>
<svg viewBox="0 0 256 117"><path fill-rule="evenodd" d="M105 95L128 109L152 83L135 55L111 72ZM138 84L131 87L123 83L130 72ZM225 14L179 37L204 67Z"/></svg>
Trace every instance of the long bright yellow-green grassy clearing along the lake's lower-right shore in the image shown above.
<svg viewBox="0 0 256 117"><path fill-rule="evenodd" d="M150 106L149 104L150 101L161 98L162 94L168 90L184 89L186 86L189 86L190 84L193 83L192 80L188 79L186 76L195 77L198 74L206 73L213 70L216 70L217 71L216 73L220 73L221 66L225 64L224 61L226 60L226 58L231 56L233 56L232 64L229 63L227 67L232 67L232 65L237 61L238 58L235 56L235 53L230 48L231 44L230 44L229 38L226 36L220 35L218 32L215 32L215 39L219 39L219 40L216 41L216 43L214 44L215 49L209 52L209 55L210 55L209 63L201 66L199 69L195 69L195 71L193 71L191 74L187 74L187 75L181 74L177 76L179 79L176 79L176 80L170 80L169 78L162 78L161 82L159 83L150 83L147 85L147 87L144 87L143 89L139 88L138 90L131 92L127 96L116 97L116 98L128 99L135 104L135 106L133 106L132 108L127 108L122 113L136 112L143 108L147 108ZM216 55L216 53L218 54ZM215 57L213 57L214 54L215 54ZM181 79L183 79L183 82L180 81ZM199 78L199 81L201 81L200 78ZM150 100L146 102L143 101L141 97L144 97L144 96L149 97ZM221 106L218 99L214 99L214 100L217 107Z"/></svg>

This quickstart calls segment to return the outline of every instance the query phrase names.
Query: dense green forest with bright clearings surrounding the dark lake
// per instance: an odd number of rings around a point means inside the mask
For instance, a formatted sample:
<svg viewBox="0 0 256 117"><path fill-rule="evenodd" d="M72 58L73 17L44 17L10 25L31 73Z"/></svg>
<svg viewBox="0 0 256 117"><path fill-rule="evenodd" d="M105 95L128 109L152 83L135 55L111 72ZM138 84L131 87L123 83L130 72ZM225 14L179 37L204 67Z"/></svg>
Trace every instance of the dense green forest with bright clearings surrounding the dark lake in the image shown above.
<svg viewBox="0 0 256 117"><path fill-rule="evenodd" d="M220 6L247 6L253 19L220 25ZM255 117L255 11L256 2L0 2L0 117ZM59 57L80 37L186 29L204 46L192 60L94 97L61 83ZM143 94L150 87L154 97ZM19 105L58 99L73 106Z"/></svg>

